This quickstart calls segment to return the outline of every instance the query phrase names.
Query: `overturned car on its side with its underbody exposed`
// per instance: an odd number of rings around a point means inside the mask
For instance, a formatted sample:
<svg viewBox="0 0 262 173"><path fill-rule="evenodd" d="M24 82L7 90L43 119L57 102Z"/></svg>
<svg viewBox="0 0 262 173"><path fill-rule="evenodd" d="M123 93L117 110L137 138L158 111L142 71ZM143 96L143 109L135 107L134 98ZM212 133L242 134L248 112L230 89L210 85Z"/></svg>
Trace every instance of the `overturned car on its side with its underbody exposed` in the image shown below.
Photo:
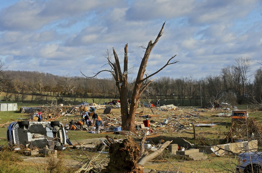
<svg viewBox="0 0 262 173"><path fill-rule="evenodd" d="M12 122L8 126L6 138L9 146L23 145L40 149L47 146L49 149L66 149L65 129L59 121Z"/></svg>

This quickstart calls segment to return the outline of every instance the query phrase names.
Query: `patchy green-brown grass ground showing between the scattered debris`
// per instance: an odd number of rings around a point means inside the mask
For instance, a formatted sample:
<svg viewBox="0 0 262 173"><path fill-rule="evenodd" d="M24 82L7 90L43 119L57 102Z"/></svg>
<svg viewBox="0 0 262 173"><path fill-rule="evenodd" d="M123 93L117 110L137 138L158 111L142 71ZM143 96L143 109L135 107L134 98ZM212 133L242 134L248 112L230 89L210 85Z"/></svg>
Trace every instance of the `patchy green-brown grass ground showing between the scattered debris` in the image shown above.
<svg viewBox="0 0 262 173"><path fill-rule="evenodd" d="M17 103L18 104L18 109L21 106L41 106L39 104L25 104L25 103ZM238 105L238 109L246 109L247 105ZM205 111L200 111L203 109L197 109L199 112L192 112L194 107L182 107L179 106L180 111L159 111L159 110L154 110L154 115L159 115L158 117L153 117L150 120L154 120L155 122L161 122L164 120L166 117L174 117L179 115L180 117L185 117L185 118L180 118L179 122L183 124L187 124L189 126L190 122L210 122L214 124L218 124L218 126L215 126L214 128L208 128L208 127L195 127L196 130L196 139L194 139L194 135L192 134L192 126L188 129L183 131L176 131L174 128L170 128L170 130L165 130L165 129L155 129L152 128L153 134L160 134L162 137L180 137L180 138L185 138L187 141L193 143L195 146L201 145L201 140L205 142L207 145L213 145L217 144L218 139L223 139L225 136L228 134L229 129L228 126L231 124L231 118L225 118L225 117L211 117L211 115L223 112L221 110L207 110ZM118 117L120 115L120 109L112 109L113 112L115 113L115 117ZM140 108L137 109L137 111L144 111L145 115L151 114L152 112L149 108ZM103 110L96 110L96 112L103 117ZM231 111L228 111L227 113L230 113ZM201 117L206 117L206 118L192 118L192 117L186 117L188 115L187 113L194 113L197 114ZM111 115L113 116L113 115ZM6 122L13 122L14 120L17 120L17 118L27 118L29 117L29 114L21 114L18 113L18 111L0 111L0 124L6 123ZM261 122L261 113L258 111L249 111L249 117L256 117L260 122ZM65 124L66 122L69 122L71 120L78 120L79 116L77 115L69 115L69 116L62 116L58 120ZM143 121L144 119L140 119L140 117L137 115L136 116L136 122L139 123ZM178 120L178 119L175 119ZM223 123L220 123L223 122ZM7 128L0 128L0 145L6 145L6 140L3 138L6 138L6 130ZM142 131L137 131L137 133L141 136ZM92 134L92 133L87 133L86 131L69 131L69 135L71 140L81 140L81 139L92 139L92 138L100 138L100 137L105 137L104 134ZM112 138L123 138L122 135L113 135L111 134ZM87 156L93 157L96 154L93 152L88 152L88 151L82 151L82 150L72 150L71 149L66 149L65 151L62 151L59 153L61 157L65 159L71 159L72 155L84 158L85 154L83 152L87 153ZM1 153L1 152L0 152ZM9 153L10 154L10 153ZM17 155L17 158L19 158L19 154ZM0 156L1 157L1 156ZM101 154L101 159L106 158L107 154ZM237 159L235 157L231 156L224 156L224 157L216 157L213 155L208 155L207 160L201 160L201 161L184 161L183 159L179 158L176 155L170 154L168 152L164 152L157 158L153 160L152 164L147 164L145 165L146 169L156 169L156 170L169 170L169 171L181 171L181 172L229 172L229 171L223 171L224 168L227 170L233 171L235 168L235 163ZM37 168L35 166L29 168L28 163L24 162L18 162L15 160L7 160L5 162L5 165L1 165L0 162L0 169L1 167L5 170L6 172L12 172L11 167L7 167L6 165L14 165L14 167L20 172L36 172Z"/></svg>

